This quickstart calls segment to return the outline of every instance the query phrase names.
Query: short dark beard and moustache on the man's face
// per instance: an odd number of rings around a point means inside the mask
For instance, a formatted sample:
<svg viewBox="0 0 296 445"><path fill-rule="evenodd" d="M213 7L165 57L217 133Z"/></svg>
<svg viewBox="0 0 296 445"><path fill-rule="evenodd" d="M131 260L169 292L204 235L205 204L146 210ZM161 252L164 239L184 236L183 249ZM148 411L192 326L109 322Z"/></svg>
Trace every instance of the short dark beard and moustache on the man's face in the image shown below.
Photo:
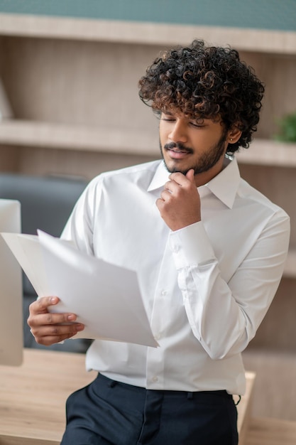
<svg viewBox="0 0 296 445"><path fill-rule="evenodd" d="M194 165L189 166L188 168L185 168L185 169L179 168L177 165L170 168L167 165L167 163L165 162L165 158L163 156L163 151L168 150L168 149L178 149L180 151L185 151L188 154L193 154L194 150L190 147L184 146L182 144L182 142L170 142L169 144L165 144L163 146L163 148L160 144L160 153L161 153L161 156L165 163L165 167L167 168L169 173L180 172L180 173L183 173L184 175L186 175L187 171L191 170L192 168L194 169L194 175L197 175L199 173L204 173L204 171L210 170L210 168L212 168L216 165L216 163L219 161L221 156L224 155L226 134L227 134L227 132L224 131L223 134L221 135L221 138L219 139L219 141L215 145L210 147L210 149L207 151L207 153L202 153Z"/></svg>

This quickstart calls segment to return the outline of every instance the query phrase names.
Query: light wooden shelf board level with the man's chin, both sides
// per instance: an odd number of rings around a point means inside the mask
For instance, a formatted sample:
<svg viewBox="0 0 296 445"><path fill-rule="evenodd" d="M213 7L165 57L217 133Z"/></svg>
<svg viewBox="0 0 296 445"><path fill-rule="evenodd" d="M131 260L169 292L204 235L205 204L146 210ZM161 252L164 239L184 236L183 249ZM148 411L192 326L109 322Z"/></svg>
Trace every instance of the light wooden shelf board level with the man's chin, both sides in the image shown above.
<svg viewBox="0 0 296 445"><path fill-rule="evenodd" d="M158 132L137 129L72 126L8 119L0 122L0 144L40 146L113 153L159 155ZM296 144L256 139L248 150L236 154L239 163L296 166Z"/></svg>

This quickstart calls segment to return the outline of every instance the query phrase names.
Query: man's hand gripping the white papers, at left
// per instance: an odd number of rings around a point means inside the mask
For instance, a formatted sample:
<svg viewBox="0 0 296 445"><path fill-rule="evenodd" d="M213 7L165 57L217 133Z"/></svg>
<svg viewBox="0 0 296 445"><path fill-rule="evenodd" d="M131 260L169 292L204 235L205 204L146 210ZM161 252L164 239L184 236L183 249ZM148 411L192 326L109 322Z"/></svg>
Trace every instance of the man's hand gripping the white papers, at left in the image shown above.
<svg viewBox="0 0 296 445"><path fill-rule="evenodd" d="M29 307L28 325L35 341L40 345L50 346L60 343L84 329L82 323L75 323L77 316L74 313L48 311L49 306L54 306L59 301L57 296L43 296Z"/></svg>

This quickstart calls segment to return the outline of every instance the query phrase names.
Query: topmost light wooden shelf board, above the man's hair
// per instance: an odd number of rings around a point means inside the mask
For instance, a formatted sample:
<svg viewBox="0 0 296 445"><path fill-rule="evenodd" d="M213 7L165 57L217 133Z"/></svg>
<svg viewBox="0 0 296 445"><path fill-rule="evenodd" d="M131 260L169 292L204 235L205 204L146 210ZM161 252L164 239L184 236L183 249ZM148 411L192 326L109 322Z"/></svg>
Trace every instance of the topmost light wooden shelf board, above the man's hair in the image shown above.
<svg viewBox="0 0 296 445"><path fill-rule="evenodd" d="M22 14L0 14L0 35L66 38L147 45L187 45L202 36L209 43L234 45L238 50L296 53L296 33L222 26L90 20Z"/></svg>

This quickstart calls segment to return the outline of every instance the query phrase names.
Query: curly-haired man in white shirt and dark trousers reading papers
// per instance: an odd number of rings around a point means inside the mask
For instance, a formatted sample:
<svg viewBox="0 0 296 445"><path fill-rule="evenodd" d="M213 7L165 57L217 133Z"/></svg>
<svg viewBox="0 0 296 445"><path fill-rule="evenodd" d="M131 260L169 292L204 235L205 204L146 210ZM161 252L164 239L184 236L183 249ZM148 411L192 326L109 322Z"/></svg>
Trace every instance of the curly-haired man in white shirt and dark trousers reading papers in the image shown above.
<svg viewBox="0 0 296 445"><path fill-rule="evenodd" d="M230 156L248 147L263 90L235 50L202 41L164 53L141 78L140 97L160 117L163 161L95 178L63 236L138 272L160 347L92 343L87 369L99 375L69 397L63 445L238 443L241 352L278 288L290 230ZM75 314L49 314L57 301L31 305L38 343L84 328L61 324Z"/></svg>

